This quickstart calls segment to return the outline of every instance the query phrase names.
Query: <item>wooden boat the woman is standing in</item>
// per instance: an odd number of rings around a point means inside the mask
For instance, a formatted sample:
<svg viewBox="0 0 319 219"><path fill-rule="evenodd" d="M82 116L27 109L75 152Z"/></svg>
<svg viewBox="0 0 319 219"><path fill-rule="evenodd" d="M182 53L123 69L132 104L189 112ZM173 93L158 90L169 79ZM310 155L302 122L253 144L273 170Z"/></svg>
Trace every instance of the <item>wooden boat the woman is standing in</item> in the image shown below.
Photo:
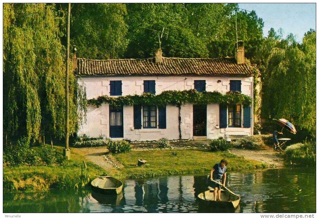
<svg viewBox="0 0 319 219"><path fill-rule="evenodd" d="M230 209L235 209L238 206L240 201L239 196L224 190L221 190L220 192L221 201L214 201L213 190L207 190L205 192L202 192L198 194L197 197L202 200L203 204L210 205L211 207L218 206L218 207L225 207Z"/></svg>

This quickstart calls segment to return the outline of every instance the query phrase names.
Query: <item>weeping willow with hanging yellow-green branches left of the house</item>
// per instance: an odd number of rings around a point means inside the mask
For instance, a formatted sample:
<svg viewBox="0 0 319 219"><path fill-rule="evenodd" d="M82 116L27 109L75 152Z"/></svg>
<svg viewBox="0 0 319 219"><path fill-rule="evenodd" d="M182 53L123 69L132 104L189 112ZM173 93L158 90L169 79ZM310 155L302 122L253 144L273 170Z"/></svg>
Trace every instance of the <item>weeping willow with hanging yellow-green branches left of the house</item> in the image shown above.
<svg viewBox="0 0 319 219"><path fill-rule="evenodd" d="M54 5L4 4L4 135L64 135L63 16ZM70 78L70 133L78 126L76 79Z"/></svg>

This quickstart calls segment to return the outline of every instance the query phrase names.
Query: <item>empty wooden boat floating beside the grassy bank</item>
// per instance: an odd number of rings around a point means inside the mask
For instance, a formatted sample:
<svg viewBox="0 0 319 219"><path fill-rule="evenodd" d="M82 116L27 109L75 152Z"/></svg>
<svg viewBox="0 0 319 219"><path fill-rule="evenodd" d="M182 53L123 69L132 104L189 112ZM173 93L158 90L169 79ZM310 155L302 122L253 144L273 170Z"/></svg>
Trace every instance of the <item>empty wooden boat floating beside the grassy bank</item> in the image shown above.
<svg viewBox="0 0 319 219"><path fill-rule="evenodd" d="M123 183L111 176L99 176L91 182L94 192L105 194L120 194Z"/></svg>

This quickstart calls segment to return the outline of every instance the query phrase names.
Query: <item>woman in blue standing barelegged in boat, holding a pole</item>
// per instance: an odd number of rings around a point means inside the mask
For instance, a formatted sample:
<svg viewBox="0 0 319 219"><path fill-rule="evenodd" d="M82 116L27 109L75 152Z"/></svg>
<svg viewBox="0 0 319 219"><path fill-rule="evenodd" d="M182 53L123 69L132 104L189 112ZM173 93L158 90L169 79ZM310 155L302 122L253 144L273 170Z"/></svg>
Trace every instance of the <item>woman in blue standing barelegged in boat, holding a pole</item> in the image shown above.
<svg viewBox="0 0 319 219"><path fill-rule="evenodd" d="M211 175L209 180L209 186L214 189L214 200L221 201L220 199L220 185L213 182L216 181L225 186L226 183L226 166L228 162L225 159L220 160L220 163L216 163L211 169ZM223 180L223 183L222 183ZM218 195L218 197L217 197Z"/></svg>

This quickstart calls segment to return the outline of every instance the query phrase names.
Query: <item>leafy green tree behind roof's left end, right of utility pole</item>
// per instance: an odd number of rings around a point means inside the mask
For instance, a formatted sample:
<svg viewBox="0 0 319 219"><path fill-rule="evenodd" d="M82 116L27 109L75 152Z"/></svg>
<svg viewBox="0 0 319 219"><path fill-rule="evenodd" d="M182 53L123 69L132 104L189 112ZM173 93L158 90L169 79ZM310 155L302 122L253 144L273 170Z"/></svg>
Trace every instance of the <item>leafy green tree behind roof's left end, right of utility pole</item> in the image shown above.
<svg viewBox="0 0 319 219"><path fill-rule="evenodd" d="M121 58L128 45L124 4L72 4L70 40L89 59Z"/></svg>

